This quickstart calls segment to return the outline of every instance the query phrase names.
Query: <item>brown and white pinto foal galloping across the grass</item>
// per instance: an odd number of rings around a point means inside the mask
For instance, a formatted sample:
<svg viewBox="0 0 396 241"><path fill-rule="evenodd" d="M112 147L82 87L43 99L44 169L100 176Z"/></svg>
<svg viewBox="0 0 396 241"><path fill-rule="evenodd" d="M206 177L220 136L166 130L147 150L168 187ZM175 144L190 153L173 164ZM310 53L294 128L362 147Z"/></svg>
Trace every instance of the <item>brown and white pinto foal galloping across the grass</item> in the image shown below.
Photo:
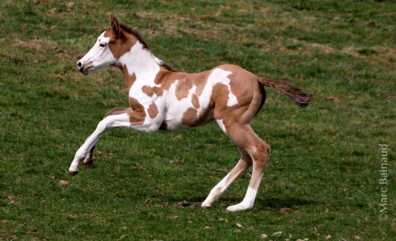
<svg viewBox="0 0 396 241"><path fill-rule="evenodd" d="M242 202L228 211L253 208L260 186L269 146L251 129L249 123L265 102L264 86L275 88L305 107L312 98L289 84L270 81L235 65L221 65L201 73L177 72L155 57L145 42L110 15L110 28L94 47L77 62L83 74L116 66L122 70L129 89L128 108L107 112L96 130L78 149L69 168L77 174L83 161L92 164L92 153L101 135L112 128L154 132L178 131L206 124L213 119L239 148L237 165L217 184L202 203L209 207L228 186L253 164L250 183Z"/></svg>

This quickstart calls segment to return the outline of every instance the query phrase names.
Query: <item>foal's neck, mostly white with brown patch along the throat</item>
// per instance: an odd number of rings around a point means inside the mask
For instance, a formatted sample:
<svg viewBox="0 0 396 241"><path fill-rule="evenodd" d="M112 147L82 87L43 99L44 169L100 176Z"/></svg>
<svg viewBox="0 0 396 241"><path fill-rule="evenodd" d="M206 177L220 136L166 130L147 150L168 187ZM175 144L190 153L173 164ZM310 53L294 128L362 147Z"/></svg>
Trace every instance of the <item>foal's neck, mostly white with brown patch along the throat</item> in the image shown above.
<svg viewBox="0 0 396 241"><path fill-rule="evenodd" d="M161 61L150 50L144 49L140 42L136 42L129 52L124 53L118 59L117 66L121 68L130 88L136 79L154 80L160 71L160 63Z"/></svg>

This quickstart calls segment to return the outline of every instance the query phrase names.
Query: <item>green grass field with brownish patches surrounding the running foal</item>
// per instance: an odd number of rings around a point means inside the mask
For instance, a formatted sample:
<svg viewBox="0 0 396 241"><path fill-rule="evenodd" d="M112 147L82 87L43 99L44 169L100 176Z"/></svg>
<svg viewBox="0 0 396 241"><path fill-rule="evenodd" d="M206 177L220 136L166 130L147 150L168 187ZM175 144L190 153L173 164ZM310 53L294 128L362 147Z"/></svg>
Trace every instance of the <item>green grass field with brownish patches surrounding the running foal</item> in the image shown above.
<svg viewBox="0 0 396 241"><path fill-rule="evenodd" d="M93 168L67 177L104 113L128 106L118 69L76 69L110 13L179 71L231 63L315 93L299 109L266 89L251 125L271 156L253 210L225 211L243 199L251 169L213 207L200 207L239 159L215 123L173 133L112 130ZM0 27L0 239L396 236L394 1L3 0Z"/></svg>

